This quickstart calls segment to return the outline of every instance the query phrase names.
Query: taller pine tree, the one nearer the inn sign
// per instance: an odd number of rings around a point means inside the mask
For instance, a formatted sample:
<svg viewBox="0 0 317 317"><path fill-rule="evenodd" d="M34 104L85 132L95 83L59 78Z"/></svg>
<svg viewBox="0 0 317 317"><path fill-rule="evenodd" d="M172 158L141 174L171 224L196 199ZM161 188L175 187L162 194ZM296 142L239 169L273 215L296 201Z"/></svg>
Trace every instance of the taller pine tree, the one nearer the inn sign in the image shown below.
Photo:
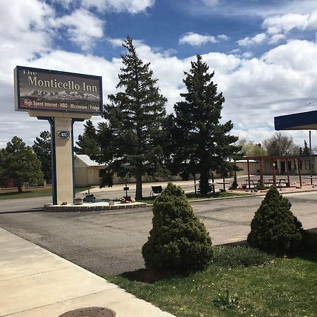
<svg viewBox="0 0 317 317"><path fill-rule="evenodd" d="M154 175L162 162L160 145L166 118L166 98L157 87L149 63L137 56L132 39L123 43L123 68L118 75L120 92L108 96L104 107L106 124L98 132L101 144L99 161L119 175L136 178L136 199L142 198L142 175ZM109 158L109 151L112 156Z"/></svg>

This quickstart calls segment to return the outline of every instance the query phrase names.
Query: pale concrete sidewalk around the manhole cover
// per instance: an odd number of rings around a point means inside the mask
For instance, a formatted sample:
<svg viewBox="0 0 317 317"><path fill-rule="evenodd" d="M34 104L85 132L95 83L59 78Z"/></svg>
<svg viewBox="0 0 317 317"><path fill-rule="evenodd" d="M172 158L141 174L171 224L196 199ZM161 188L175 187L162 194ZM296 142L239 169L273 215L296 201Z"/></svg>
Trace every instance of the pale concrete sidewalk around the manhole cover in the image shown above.
<svg viewBox="0 0 317 317"><path fill-rule="evenodd" d="M102 306L116 316L173 316L0 228L0 316L58 317Z"/></svg>

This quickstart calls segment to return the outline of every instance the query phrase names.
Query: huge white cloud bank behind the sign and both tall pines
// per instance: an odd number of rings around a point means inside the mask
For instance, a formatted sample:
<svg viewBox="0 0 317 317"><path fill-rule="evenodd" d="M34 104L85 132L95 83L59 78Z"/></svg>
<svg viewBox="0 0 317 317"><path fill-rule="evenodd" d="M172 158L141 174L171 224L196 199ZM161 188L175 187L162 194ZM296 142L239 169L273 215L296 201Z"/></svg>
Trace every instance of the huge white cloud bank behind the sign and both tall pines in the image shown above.
<svg viewBox="0 0 317 317"><path fill-rule="evenodd" d="M45 121L30 118L27 113L14 112L12 73L16 65L101 75L105 103L107 95L117 91L118 72L122 66L119 56L106 59L93 54L57 50L51 44L54 33L50 23L52 18L56 18L54 10L39 1L28 0L27 5L25 2L11 0L11 6L0 2L0 26L6 30L0 34L0 147L4 147L13 135L32 144L39 132L49 129ZM77 27L68 23L68 18L62 21L56 27ZM96 29L85 34L98 39L99 32L97 24ZM266 40L271 39L271 36L266 36ZM261 38L253 40L256 41L261 42ZM122 40L112 39L112 42L118 45ZM170 56L142 41L135 41L135 46L140 58L151 62L161 92L168 98L168 112L173 111L173 104L180 101L180 92L185 89L183 72L189 70L190 61L196 57ZM241 137L262 142L274 132L274 116L309 111L316 106L303 106L317 99L316 42L292 40L268 50L259 58L251 58L250 54L243 56L240 49L235 49L228 54L204 54L203 60L209 64L210 71L215 70L213 81L218 85L218 92L225 96L223 120L231 119L235 125L233 132ZM94 122L97 120L101 118L94 118ZM75 125L75 137L79 133L82 133L81 123ZM304 132L289 133L296 140Z"/></svg>

